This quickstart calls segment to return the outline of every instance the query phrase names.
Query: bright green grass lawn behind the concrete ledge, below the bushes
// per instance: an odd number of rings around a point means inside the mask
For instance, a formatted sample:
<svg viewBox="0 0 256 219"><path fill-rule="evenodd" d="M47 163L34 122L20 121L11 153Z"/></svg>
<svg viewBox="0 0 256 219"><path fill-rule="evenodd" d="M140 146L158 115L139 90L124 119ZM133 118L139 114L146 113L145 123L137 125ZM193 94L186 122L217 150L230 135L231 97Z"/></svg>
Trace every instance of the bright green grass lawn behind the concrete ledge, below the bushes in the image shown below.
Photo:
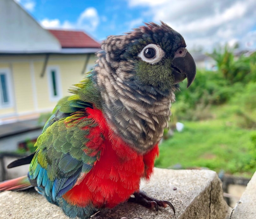
<svg viewBox="0 0 256 219"><path fill-rule="evenodd" d="M223 116L222 107L211 110L216 119L181 121L185 125L183 132L174 132L159 145L156 167L180 164L182 168L207 167L216 172L252 176L256 168L250 163L256 158L251 153L251 135L255 131L237 126L233 115Z"/></svg>

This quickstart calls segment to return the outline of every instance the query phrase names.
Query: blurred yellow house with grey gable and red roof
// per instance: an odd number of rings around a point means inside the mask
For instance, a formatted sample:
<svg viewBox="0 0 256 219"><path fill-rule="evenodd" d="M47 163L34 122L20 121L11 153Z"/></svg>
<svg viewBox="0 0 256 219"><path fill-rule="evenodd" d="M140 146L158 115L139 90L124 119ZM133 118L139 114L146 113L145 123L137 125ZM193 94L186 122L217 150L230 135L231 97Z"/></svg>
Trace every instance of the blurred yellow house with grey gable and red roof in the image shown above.
<svg viewBox="0 0 256 219"><path fill-rule="evenodd" d="M0 124L50 112L92 69L100 44L82 31L46 30L0 1Z"/></svg>

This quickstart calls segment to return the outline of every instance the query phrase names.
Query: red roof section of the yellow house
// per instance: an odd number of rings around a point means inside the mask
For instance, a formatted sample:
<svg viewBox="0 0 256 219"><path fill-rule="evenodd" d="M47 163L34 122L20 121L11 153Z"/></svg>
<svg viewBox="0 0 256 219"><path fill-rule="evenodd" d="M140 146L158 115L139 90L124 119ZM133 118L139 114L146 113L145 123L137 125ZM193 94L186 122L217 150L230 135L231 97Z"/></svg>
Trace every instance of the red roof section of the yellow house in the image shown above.
<svg viewBox="0 0 256 219"><path fill-rule="evenodd" d="M100 48L101 44L83 31L48 30L58 39L62 48Z"/></svg>

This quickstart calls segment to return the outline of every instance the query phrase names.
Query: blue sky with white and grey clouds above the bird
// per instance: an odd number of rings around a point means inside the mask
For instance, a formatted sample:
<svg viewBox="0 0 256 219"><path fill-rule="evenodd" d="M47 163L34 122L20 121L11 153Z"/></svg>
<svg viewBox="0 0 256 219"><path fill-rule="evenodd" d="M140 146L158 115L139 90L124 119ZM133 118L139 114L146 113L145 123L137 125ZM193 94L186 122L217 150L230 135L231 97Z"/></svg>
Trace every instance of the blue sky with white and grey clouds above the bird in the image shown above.
<svg viewBox="0 0 256 219"><path fill-rule="evenodd" d="M189 49L211 51L237 42L256 49L255 0L15 0L45 28L83 30L101 41L160 20Z"/></svg>

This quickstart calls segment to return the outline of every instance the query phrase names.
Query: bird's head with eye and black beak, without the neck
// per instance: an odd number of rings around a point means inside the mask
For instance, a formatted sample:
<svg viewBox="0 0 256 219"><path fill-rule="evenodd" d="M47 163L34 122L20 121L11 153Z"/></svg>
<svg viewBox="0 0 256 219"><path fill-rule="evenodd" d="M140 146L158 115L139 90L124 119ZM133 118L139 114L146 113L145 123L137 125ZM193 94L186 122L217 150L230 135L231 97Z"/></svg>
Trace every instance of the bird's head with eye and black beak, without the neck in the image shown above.
<svg viewBox="0 0 256 219"><path fill-rule="evenodd" d="M187 87L196 75L196 65L183 37L167 24L146 23L122 36L110 36L102 44L106 60L117 76L129 72L133 82L165 93L187 78ZM124 75L122 75L124 74Z"/></svg>

